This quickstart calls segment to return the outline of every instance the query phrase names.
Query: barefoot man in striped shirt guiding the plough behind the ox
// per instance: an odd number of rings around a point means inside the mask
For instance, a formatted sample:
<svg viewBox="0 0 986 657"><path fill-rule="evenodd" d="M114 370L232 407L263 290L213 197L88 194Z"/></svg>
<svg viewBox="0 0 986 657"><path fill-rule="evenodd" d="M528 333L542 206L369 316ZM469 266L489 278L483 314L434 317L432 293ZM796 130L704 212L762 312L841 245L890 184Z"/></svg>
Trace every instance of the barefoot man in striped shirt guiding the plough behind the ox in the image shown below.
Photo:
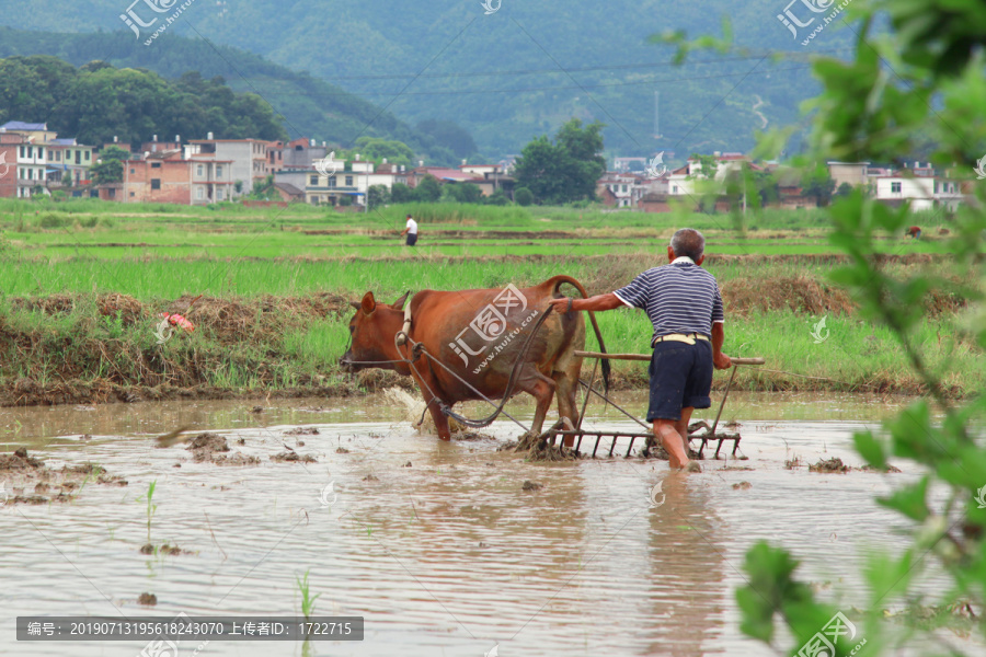
<svg viewBox="0 0 986 657"><path fill-rule="evenodd" d="M706 238L683 228L667 247L670 264L647 269L624 288L588 299L552 299L555 312L640 308L654 324L647 422L667 450L672 468L699 470L688 460L688 420L712 405L712 369L732 367L722 353L722 298L715 278L701 268Z"/></svg>

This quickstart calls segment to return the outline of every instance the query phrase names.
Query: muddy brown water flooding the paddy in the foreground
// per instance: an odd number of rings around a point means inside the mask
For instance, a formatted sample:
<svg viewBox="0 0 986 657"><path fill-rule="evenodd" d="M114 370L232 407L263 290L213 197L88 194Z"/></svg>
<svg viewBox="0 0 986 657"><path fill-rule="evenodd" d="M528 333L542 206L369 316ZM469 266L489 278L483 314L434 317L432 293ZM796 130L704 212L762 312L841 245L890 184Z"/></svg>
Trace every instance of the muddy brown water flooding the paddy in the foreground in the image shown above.
<svg viewBox="0 0 986 657"><path fill-rule="evenodd" d="M644 412L640 395L618 401ZM873 497L916 475L906 464L901 474L814 474L784 460L859 464L852 431L898 405L737 394L724 420L742 423L749 460L706 461L689 476L669 475L664 462L548 465L498 453L496 440L442 443L380 400L291 400L260 413L243 402L2 408L0 452L26 446L46 460L94 461L129 485L89 484L70 504L0 507L0 654L144 646L19 644L19 614L295 615L295 577L310 570L316 611L365 616L366 639L305 654L479 657L500 644L504 657L772 655L737 629L745 551L759 539L783 543L800 576L845 601L851 620L851 606L865 606L865 550L899 549L904 528ZM612 407L596 406L587 424L633 429ZM219 433L261 464L194 463L184 446L152 447L151 436L180 426ZM298 426L320 433L285 435ZM518 429L505 422L489 433L502 441ZM285 446L318 462L272 462ZM147 515L136 498L152 481L151 542L191 554L140 554ZM527 481L541 487L525 491ZM649 508L658 482L664 503ZM142 592L157 596L156 608L137 604ZM199 654L301 655L302 646L213 642Z"/></svg>

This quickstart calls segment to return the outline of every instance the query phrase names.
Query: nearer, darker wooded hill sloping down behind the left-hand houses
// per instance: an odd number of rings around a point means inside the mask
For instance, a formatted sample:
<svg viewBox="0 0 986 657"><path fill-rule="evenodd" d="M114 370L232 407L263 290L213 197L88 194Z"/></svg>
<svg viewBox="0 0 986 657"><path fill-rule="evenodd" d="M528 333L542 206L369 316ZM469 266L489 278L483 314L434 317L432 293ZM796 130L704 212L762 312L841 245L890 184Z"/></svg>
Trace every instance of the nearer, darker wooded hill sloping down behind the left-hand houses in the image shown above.
<svg viewBox="0 0 986 657"><path fill-rule="evenodd" d="M196 103L185 97L175 97L169 110L160 106L165 96L156 94L153 102L146 104L139 95L135 96L134 89L123 83L126 77L121 74L122 71L112 76L105 73L110 78L96 89L96 84L89 81L90 77L80 76L77 81L57 61L41 62L31 57L37 54L57 57L82 67L83 71L105 66L91 64L99 61L118 69L152 71L172 80L174 91L196 93L202 102L194 106ZM249 135L271 139L313 137L348 146L360 136L369 136L398 139L417 153L449 163L454 160L451 151L438 147L434 138L370 102L306 72L295 72L251 53L216 46L202 38L170 36L149 48L135 44L129 32L59 34L0 27L0 58L11 57L30 58L28 68L44 70L37 80L14 76L13 72L24 73L24 67L14 67L14 60L5 60L7 66L0 69L0 73L4 73L0 83L3 120L48 120L53 123L53 129L81 139L104 139L107 131L133 141L147 141L153 132L160 132L161 139L170 139L175 134L186 139L202 139L211 131L218 138ZM156 88L163 83L153 78L139 82ZM226 87L239 93L237 99L223 99L226 105L217 110L214 101L223 94L221 88ZM121 92L125 89L127 101L118 106L121 103L116 101L119 99L114 95L123 97ZM239 105L231 104L234 100ZM252 124L243 116L234 116L238 107L244 114L249 111L260 116L255 105L266 104L273 107L271 118L276 127L262 123L266 116ZM105 113L102 117L105 123L112 117L106 111L108 105L117 105L121 113L116 130L79 125L79 115L85 112L91 116ZM142 124L146 125L141 128Z"/></svg>

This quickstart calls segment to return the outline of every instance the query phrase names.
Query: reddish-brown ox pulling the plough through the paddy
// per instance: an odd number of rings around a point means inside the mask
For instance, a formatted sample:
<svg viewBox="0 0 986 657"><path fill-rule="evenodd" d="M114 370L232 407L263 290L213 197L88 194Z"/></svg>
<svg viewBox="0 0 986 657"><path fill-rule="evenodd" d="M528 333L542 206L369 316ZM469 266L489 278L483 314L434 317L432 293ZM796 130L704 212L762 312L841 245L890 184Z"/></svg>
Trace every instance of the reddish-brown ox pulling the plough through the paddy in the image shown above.
<svg viewBox="0 0 986 657"><path fill-rule="evenodd" d="M423 290L411 299L412 343L421 343L428 354L455 371L480 393L491 400L503 399L514 365L521 358L525 343L534 327L547 311L548 300L561 298L559 287L573 285L583 297L585 288L570 276L554 276L535 287L517 289L463 290L440 292ZM456 379L449 371L421 356L412 368L400 361L408 358L411 345L397 346L395 335L402 330L405 312L404 295L392 304L378 303L372 292L363 301L353 301L356 314L349 321L352 347L343 356L342 364L349 369L393 369L410 374L424 396L438 436L450 438L448 419L437 402L448 407L458 402L482 399L473 390ZM588 313L599 346L603 336L593 313ZM511 396L527 392L537 400L531 434L540 434L558 394L560 417L572 423L577 419L575 389L582 370L582 358L576 349L585 346L585 320L582 313L549 314L534 334L523 364L518 366L516 384ZM603 376L608 385L608 361L603 361ZM571 441L571 439L570 439Z"/></svg>

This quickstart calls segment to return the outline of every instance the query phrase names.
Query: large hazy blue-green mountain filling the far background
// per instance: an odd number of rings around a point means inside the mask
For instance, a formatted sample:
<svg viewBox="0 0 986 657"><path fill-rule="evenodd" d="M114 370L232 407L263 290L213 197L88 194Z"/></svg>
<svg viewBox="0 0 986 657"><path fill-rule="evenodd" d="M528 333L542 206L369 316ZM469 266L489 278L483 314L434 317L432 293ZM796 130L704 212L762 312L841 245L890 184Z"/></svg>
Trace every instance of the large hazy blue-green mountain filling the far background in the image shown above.
<svg viewBox="0 0 986 657"><path fill-rule="evenodd" d="M131 7L149 22L168 15L157 14L151 4L172 8L175 1L138 0ZM392 113L411 125L455 122L486 154L519 152L532 137L553 132L577 116L607 124L608 151L630 155L673 150L680 158L693 150L746 150L765 123L770 127L798 120L799 103L816 92L805 56L837 54L853 35L836 21L802 46L807 30L795 38L777 18L786 4L784 0L490 0L491 8L500 9L485 15L480 0L196 0L150 46L142 42L156 25L140 30L139 36L130 32L121 19L126 0L0 0L0 23L103 31L87 44L88 57L114 64L135 58L142 62L139 66L159 72L173 66L169 59L175 48L192 47L174 38L185 35L208 44L196 50L198 70L222 70L233 88L252 85L286 116L296 103L303 104L291 123L328 111L347 97L340 95L345 90L386 108L383 116ZM802 21L822 16L803 3L788 7ZM697 53L689 64L674 67L672 48L649 42L666 31L720 33L721 16L726 15L734 43L750 54ZM222 61L228 51L218 44L291 70L307 70L310 77L298 76L309 87L303 94L291 92L270 70L241 71L246 80L238 81ZM69 56L70 47L59 51ZM788 55L776 60L772 53ZM174 71L180 72L184 70ZM655 92L661 99L661 138L654 137ZM367 113L360 117L372 120ZM372 126L385 129L376 122Z"/></svg>

